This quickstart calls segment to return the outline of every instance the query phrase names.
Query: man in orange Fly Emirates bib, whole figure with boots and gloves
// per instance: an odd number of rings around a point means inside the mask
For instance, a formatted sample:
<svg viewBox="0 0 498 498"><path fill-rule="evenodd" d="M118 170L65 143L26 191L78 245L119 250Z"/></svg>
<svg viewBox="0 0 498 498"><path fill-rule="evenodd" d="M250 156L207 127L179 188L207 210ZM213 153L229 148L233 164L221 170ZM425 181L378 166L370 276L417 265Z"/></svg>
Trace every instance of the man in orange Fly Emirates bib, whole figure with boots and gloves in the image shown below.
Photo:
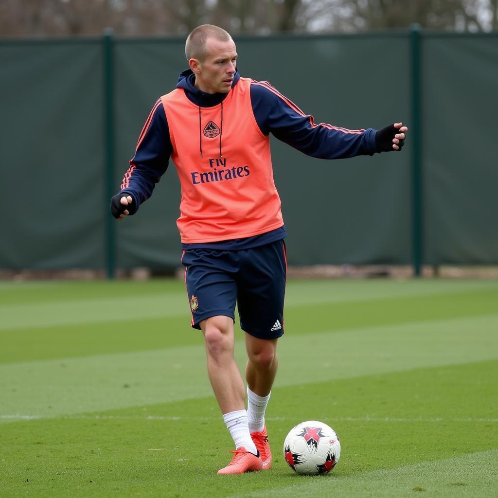
<svg viewBox="0 0 498 498"><path fill-rule="evenodd" d="M240 77L235 43L217 26L194 29L185 54L190 69L153 107L111 209L118 220L134 214L171 157L181 184L177 226L191 325L204 334L208 375L236 448L218 474L242 474L271 466L264 413L284 330L286 230L269 133L335 159L400 150L408 128L315 124L269 83ZM234 360L236 302L248 354L247 410Z"/></svg>

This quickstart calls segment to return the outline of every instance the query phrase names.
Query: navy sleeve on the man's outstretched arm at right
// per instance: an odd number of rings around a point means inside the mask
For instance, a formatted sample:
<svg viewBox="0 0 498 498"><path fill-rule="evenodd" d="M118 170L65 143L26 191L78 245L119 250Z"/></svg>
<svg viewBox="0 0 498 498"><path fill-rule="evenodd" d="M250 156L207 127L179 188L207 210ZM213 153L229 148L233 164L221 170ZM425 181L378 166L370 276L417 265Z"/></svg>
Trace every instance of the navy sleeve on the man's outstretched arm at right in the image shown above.
<svg viewBox="0 0 498 498"><path fill-rule="evenodd" d="M309 156L340 159L375 152L376 130L314 122L268 82L252 80L251 105L260 130Z"/></svg>

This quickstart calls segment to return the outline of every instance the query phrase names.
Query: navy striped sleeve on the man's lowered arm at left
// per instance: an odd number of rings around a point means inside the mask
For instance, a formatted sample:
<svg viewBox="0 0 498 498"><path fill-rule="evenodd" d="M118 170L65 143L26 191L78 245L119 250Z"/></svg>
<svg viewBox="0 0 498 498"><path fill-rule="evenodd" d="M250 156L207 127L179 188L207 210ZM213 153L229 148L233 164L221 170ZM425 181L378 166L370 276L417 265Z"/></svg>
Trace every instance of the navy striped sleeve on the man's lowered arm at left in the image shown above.
<svg viewBox="0 0 498 498"><path fill-rule="evenodd" d="M126 192L135 202L133 213L152 195L155 184L168 168L172 149L166 115L158 99L143 125L135 155L121 184L120 193Z"/></svg>

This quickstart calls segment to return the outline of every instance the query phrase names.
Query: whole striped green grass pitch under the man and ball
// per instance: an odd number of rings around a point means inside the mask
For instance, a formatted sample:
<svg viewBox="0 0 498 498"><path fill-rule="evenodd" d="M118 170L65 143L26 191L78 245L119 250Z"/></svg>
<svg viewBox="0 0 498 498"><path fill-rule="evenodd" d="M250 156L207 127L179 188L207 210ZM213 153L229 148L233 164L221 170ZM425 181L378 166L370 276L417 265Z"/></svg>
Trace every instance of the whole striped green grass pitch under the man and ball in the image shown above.
<svg viewBox="0 0 498 498"><path fill-rule="evenodd" d="M189 323L181 281L0 283L0 497L498 496L497 281L288 282L274 464L242 476L216 474L233 443ZM309 419L341 438L325 476L282 455Z"/></svg>

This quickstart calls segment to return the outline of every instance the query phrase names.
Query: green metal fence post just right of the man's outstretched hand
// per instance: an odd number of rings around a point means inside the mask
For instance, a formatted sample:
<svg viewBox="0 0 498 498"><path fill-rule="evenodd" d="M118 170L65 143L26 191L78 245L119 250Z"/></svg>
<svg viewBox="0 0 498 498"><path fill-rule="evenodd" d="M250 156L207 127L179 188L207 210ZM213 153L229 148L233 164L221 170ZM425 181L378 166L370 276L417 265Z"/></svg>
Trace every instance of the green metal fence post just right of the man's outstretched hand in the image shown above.
<svg viewBox="0 0 498 498"><path fill-rule="evenodd" d="M411 27L411 197L412 197L412 265L414 276L421 276L423 264L423 199L422 199L422 140L421 140L421 67L420 26Z"/></svg>

